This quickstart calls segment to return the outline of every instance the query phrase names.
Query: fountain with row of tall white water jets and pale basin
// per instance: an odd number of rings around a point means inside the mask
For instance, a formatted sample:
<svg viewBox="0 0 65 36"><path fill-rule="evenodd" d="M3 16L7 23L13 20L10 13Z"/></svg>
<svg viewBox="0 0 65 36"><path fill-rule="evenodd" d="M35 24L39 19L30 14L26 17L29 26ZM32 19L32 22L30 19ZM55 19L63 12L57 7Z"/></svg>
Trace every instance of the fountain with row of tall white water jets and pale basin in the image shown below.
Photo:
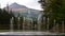
<svg viewBox="0 0 65 36"><path fill-rule="evenodd" d="M30 14L30 13L28 13L28 14ZM28 16L28 19L29 19L29 17L30 16ZM20 20L21 20L21 18L18 17L17 19L18 19L17 28L18 28L18 31L20 31ZM14 25L13 25L14 24L14 17L12 17L11 20L10 20L10 30L11 31L10 32L2 32L2 33L0 33L0 35L56 35L54 33L40 32L41 14L38 17L38 28L37 29L38 29L39 32L36 32L36 31L35 32L24 32L25 31L25 20L26 20L26 18L24 17L23 18L23 32L14 32L13 31L13 29L14 29ZM31 22L31 30L32 30L32 19L31 19L30 22ZM48 23L49 23L49 18L48 18ZM29 22L28 22L28 24L29 24ZM36 26L36 24L35 24L35 26Z"/></svg>

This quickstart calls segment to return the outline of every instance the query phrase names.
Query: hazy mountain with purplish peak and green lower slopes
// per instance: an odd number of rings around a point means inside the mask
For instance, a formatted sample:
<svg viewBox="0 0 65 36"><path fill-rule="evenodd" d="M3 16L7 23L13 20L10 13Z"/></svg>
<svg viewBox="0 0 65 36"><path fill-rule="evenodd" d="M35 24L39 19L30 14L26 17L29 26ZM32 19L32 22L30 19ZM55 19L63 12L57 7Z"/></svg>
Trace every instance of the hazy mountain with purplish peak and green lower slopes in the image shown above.
<svg viewBox="0 0 65 36"><path fill-rule="evenodd" d="M5 7L5 10L8 10L8 6ZM28 8L25 5L17 4L16 2L9 5L9 10L10 11L12 10L12 12L15 16L17 16L18 14L21 14L21 16L27 16L28 12L30 12L29 15L31 15L32 17L38 17L38 15L40 14L40 11L34 10L34 8Z"/></svg>

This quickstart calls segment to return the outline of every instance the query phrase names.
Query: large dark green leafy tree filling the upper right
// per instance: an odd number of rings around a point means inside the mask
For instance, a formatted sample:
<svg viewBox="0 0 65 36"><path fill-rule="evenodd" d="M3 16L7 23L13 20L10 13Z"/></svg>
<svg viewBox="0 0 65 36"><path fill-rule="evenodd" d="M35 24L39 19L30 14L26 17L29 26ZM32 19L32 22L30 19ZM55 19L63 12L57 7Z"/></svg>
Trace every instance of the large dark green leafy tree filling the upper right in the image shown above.
<svg viewBox="0 0 65 36"><path fill-rule="evenodd" d="M56 22L61 22L62 19L65 21L65 0L40 0L39 2L44 15L50 17L50 28L53 26L54 19L56 19Z"/></svg>

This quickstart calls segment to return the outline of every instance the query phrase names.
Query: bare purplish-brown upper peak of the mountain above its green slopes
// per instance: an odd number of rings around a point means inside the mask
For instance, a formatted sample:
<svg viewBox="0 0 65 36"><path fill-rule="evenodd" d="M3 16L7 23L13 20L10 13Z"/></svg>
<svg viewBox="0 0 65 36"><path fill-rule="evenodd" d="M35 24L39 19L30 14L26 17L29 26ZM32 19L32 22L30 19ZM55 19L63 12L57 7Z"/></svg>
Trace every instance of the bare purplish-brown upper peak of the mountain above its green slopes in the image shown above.
<svg viewBox="0 0 65 36"><path fill-rule="evenodd" d="M27 10L27 7L25 5L20 5L16 2L12 3L9 6L6 5L6 7L4 7L4 8L8 11L8 7L9 7L9 11L12 10L13 12L18 12L18 11Z"/></svg>

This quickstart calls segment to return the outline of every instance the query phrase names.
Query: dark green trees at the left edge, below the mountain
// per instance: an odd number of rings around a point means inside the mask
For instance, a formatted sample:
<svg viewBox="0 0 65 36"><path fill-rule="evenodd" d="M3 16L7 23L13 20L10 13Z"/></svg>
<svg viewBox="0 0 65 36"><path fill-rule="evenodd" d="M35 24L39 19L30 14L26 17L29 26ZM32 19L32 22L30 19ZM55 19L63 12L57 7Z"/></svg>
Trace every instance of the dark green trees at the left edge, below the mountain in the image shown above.
<svg viewBox="0 0 65 36"><path fill-rule="evenodd" d="M10 24L10 19L13 15L10 14L8 11L4 8L0 8L0 24Z"/></svg>

